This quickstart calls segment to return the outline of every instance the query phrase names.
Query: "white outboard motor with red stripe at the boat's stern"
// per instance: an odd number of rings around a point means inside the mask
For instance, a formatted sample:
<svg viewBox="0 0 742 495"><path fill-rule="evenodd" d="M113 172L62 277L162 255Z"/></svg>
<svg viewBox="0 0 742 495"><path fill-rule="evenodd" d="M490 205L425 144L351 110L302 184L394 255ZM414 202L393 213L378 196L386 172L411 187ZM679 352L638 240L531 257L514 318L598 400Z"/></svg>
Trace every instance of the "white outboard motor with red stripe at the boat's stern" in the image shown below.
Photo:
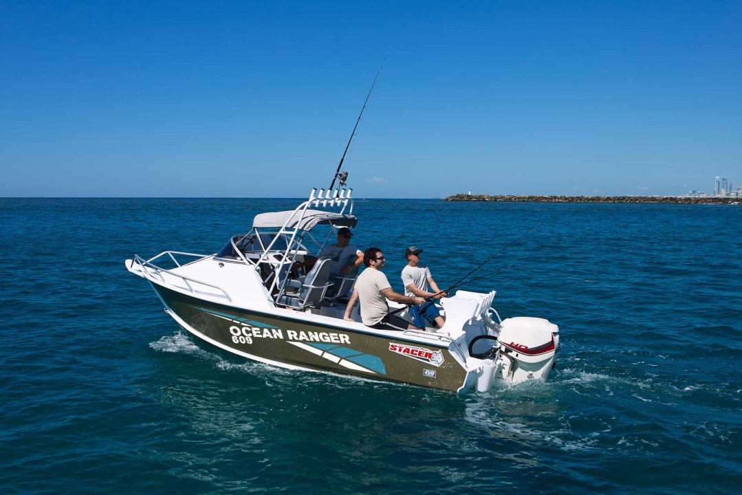
<svg viewBox="0 0 742 495"><path fill-rule="evenodd" d="M544 318L507 318L497 337L502 378L546 379L559 352L559 327Z"/></svg>

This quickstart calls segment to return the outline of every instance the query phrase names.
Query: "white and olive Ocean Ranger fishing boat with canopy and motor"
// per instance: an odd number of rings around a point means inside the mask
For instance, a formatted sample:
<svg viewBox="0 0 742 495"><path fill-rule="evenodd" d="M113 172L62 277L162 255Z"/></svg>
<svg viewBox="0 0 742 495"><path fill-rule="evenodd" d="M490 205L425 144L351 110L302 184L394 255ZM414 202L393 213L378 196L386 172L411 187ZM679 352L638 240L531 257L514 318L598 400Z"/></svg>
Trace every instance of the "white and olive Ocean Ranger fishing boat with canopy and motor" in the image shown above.
<svg viewBox="0 0 742 495"><path fill-rule="evenodd" d="M353 321L344 319L356 273L332 280L329 258L292 271L334 242L338 229L357 225L352 191L315 188L294 210L257 214L247 234L233 235L217 253L134 255L125 266L191 335L275 367L456 393L549 376L559 327L544 318L502 320L492 307L496 291L451 291L436 301L440 328L377 330L361 322L358 307ZM388 303L412 321L404 305Z"/></svg>

